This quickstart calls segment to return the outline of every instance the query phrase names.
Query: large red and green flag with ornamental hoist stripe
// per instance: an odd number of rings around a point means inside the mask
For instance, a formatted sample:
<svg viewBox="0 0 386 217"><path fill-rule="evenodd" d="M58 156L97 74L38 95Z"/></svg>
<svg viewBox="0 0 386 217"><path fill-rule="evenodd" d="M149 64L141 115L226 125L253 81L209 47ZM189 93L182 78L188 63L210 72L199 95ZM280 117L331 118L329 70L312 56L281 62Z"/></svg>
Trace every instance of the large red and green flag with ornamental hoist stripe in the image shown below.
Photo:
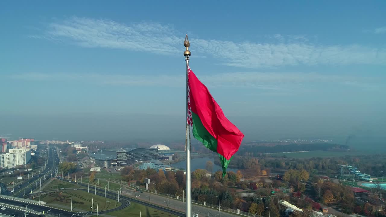
<svg viewBox="0 0 386 217"><path fill-rule="evenodd" d="M188 124L193 136L211 151L218 153L223 176L232 156L239 150L244 134L225 117L222 109L188 68Z"/></svg>

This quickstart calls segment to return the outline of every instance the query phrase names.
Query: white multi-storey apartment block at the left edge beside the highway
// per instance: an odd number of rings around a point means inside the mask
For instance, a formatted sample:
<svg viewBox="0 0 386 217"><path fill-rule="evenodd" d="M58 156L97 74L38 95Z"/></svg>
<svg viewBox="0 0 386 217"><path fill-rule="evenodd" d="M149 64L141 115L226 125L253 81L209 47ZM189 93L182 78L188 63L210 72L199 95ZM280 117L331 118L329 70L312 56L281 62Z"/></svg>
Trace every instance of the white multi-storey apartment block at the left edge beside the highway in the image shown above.
<svg viewBox="0 0 386 217"><path fill-rule="evenodd" d="M10 149L10 153L0 154L0 167L11 168L24 165L27 164L30 159L31 149Z"/></svg>

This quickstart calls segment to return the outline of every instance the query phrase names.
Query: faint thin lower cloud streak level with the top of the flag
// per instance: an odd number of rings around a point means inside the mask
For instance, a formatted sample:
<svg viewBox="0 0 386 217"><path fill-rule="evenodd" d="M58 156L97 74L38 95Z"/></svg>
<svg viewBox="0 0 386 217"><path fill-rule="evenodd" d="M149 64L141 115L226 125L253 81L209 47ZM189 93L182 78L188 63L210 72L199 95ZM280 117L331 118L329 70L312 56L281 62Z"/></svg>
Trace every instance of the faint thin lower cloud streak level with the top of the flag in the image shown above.
<svg viewBox="0 0 386 217"><path fill-rule="evenodd" d="M375 90L376 81L372 78L358 78L353 76L322 75L318 73L262 73L239 72L222 73L217 75L198 75L199 79L210 88L237 87L257 88L269 92L285 92L301 88L303 84L317 82L336 83L338 85L355 86L356 88ZM55 82L81 82L97 83L102 85L122 86L168 86L183 87L185 76L142 76L142 75L102 75L102 74L46 74L22 73L10 75L15 80L55 81Z"/></svg>

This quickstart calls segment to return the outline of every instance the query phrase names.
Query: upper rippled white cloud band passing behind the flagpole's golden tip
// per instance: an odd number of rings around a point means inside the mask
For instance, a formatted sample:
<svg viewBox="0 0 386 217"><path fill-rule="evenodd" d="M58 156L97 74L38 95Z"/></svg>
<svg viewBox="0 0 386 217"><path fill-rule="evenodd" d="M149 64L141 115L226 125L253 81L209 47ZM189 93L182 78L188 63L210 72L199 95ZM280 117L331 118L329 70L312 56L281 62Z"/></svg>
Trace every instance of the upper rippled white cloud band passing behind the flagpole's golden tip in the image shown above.
<svg viewBox="0 0 386 217"><path fill-rule="evenodd" d="M382 32L382 28L378 30ZM83 47L127 49L163 55L179 55L184 34L169 25L153 22L123 24L105 19L72 17L54 21L45 27L44 38ZM283 41L283 36L273 36ZM385 47L359 44L320 45L307 42L259 43L233 42L215 39L191 39L191 49L197 56L213 57L220 64L244 68L317 64L386 64Z"/></svg>

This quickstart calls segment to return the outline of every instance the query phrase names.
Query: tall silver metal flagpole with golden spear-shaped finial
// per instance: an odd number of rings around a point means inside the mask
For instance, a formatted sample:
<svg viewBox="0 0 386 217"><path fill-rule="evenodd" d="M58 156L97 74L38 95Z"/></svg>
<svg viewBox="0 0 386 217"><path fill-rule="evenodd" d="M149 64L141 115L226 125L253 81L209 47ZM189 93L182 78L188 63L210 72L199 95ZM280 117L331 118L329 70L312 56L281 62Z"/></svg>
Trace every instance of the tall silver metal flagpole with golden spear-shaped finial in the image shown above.
<svg viewBox="0 0 386 217"><path fill-rule="evenodd" d="M186 151L186 217L192 217L191 209L191 172L190 172L190 123L188 121L188 67L189 67L189 57L190 57L190 43L188 39L188 34L186 34L184 46L186 50L184 51L185 61L186 61L186 137L185 137L185 151Z"/></svg>

